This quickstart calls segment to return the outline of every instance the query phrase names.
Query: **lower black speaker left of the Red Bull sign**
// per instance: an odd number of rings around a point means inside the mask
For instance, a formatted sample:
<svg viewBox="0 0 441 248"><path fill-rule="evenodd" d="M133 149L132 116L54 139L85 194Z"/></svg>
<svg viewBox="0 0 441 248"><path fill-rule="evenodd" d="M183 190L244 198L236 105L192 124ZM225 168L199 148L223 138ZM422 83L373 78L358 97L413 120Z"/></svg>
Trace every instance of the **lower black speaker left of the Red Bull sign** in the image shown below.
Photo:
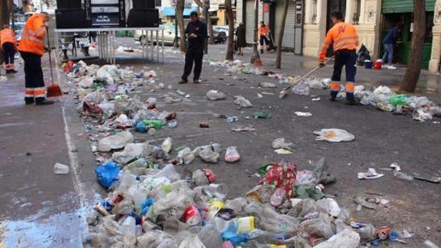
<svg viewBox="0 0 441 248"><path fill-rule="evenodd" d="M55 24L57 29L87 28L86 11L82 9L56 9Z"/></svg>

